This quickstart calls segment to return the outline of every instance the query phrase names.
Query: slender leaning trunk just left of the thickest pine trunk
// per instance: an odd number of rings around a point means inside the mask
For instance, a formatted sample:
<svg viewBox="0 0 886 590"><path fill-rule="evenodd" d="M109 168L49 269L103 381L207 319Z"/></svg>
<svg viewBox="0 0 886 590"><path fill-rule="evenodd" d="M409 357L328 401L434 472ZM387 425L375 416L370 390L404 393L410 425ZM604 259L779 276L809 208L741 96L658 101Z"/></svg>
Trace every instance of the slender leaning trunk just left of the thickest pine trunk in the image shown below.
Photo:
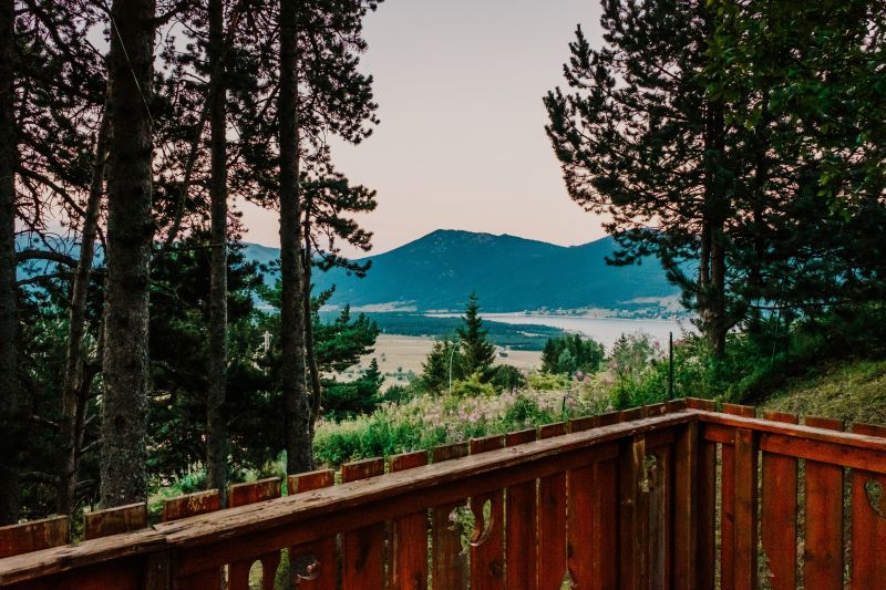
<svg viewBox="0 0 886 590"><path fill-rule="evenodd" d="M83 441L83 415L86 395L92 376L84 372L83 335L86 332L86 298L90 288L90 271L95 253L95 238L99 234L99 214L104 195L104 170L107 154L107 117L102 114L99 136L95 141L95 162L92 167L90 197L80 245L80 260L71 288L71 311L69 313L68 352L64 370L64 391L62 393L61 437L64 449L62 473L59 485L56 513L70 515L74 506L78 472L80 469L80 446Z"/></svg>

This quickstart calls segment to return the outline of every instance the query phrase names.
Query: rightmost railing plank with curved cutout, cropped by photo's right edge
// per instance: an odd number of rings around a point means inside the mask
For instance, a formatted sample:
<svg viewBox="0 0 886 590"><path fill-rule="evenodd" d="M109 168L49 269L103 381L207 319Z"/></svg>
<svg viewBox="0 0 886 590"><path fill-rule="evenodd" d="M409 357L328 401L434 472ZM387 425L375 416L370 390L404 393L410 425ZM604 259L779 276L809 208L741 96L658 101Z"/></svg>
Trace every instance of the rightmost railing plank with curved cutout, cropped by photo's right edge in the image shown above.
<svg viewBox="0 0 886 590"><path fill-rule="evenodd" d="M884 426L855 424L853 432L886 437ZM870 495L868 486L872 486ZM886 559L882 556L886 547L885 494L886 476L862 469L852 470L853 588L886 588Z"/></svg>

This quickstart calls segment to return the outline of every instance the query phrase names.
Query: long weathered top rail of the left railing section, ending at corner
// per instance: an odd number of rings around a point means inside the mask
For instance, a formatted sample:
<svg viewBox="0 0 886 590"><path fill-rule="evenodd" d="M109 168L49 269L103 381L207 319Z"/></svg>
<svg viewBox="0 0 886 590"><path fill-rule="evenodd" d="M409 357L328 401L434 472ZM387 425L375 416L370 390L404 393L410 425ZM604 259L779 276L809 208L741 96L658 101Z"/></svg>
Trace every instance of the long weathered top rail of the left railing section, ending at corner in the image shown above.
<svg viewBox="0 0 886 590"><path fill-rule="evenodd" d="M350 530L385 518L405 515L426 506L440 505L466 495L491 491L558 473L564 466L589 464L600 457L588 453L607 443L635 434L677 426L694 420L693 411L615 423L594 429L524 443L451 460L389 473L358 482L305 491L261 504L228 508L199 516L161 522L140 531L84 541L0 560L0 584L14 583L73 568L164 549L207 546L214 553L229 551L238 558L256 557L272 537L280 546L298 545L329 530ZM617 449L608 451L611 456ZM421 491L421 494L419 494ZM371 507L371 509L367 509ZM317 521L320 527L292 527ZM313 531L313 532L311 532ZM250 547L251 536L265 542ZM228 541L228 542L226 542ZM219 547L219 544L228 547ZM195 555L199 569L208 555ZM188 571L185 563L184 571Z"/></svg>

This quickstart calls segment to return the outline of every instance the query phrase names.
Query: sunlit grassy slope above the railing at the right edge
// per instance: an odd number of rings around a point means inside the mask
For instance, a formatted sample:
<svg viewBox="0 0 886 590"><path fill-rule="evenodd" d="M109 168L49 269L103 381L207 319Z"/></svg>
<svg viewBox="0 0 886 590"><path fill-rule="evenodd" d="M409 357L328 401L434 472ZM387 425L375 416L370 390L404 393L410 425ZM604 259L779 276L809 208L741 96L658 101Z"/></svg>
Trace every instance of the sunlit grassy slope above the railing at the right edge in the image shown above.
<svg viewBox="0 0 886 590"><path fill-rule="evenodd" d="M761 404L765 410L886 424L886 360L855 360L815 368Z"/></svg>

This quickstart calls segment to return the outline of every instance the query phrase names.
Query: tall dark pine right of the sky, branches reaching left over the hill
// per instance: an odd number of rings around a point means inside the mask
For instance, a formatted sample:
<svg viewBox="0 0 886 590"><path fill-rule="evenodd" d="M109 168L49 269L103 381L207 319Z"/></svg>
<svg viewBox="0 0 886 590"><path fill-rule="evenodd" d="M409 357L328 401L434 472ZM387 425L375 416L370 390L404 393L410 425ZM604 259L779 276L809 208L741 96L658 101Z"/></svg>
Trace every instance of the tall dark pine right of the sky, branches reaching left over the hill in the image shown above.
<svg viewBox="0 0 886 590"><path fill-rule="evenodd" d="M727 105L702 75L715 18L704 2L605 0L606 46L591 49L579 28L564 68L576 92L557 89L545 104L569 195L612 219L605 227L621 250L610 262L658 256L723 354L743 317L730 290L738 207L728 151L743 127L727 124Z"/></svg>

